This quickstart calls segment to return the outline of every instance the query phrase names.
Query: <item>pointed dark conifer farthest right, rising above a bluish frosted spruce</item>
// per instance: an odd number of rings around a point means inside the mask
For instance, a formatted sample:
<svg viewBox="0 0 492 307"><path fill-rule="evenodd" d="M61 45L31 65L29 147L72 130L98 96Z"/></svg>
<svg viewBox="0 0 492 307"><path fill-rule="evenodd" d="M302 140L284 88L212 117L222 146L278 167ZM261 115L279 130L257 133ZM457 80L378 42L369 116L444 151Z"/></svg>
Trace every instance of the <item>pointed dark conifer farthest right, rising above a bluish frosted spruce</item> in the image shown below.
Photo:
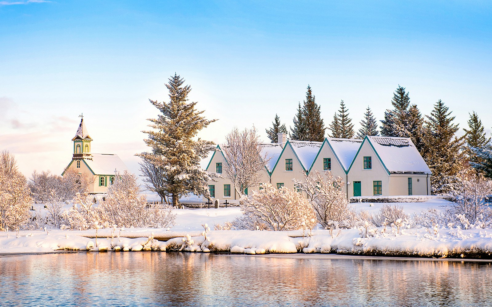
<svg viewBox="0 0 492 307"><path fill-rule="evenodd" d="M473 167L474 165L480 166L485 162L481 156L485 153L486 145L490 145L491 138L486 138L486 133L484 132L484 125L482 121L478 117L476 112L470 115L470 119L468 119L468 128L464 129L465 135L465 154L468 156L468 160L470 165ZM490 146L487 146L490 147ZM476 148L477 150L473 150ZM477 170L483 172L482 170L477 168Z"/></svg>

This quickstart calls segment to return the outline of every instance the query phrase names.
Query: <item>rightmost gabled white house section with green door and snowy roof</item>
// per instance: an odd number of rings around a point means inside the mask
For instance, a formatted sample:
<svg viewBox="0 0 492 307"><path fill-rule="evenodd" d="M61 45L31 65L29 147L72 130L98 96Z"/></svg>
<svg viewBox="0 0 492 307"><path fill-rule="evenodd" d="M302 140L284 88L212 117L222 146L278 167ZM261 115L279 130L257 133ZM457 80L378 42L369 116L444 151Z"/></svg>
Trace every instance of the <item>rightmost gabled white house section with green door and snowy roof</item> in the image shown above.
<svg viewBox="0 0 492 307"><path fill-rule="evenodd" d="M429 195L430 177L409 138L367 136L348 169L348 197Z"/></svg>

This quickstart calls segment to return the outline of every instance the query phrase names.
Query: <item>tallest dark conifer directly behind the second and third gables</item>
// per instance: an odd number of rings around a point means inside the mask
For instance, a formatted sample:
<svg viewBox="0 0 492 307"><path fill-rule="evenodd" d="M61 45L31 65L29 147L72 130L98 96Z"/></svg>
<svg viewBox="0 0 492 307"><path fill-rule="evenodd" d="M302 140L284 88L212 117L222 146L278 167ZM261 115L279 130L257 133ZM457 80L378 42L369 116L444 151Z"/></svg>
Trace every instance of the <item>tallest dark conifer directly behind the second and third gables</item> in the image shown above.
<svg viewBox="0 0 492 307"><path fill-rule="evenodd" d="M325 124L321 118L321 106L316 104L311 87L307 85L306 100L303 107L306 136L304 140L322 142L325 140ZM301 140L301 139L299 139Z"/></svg>

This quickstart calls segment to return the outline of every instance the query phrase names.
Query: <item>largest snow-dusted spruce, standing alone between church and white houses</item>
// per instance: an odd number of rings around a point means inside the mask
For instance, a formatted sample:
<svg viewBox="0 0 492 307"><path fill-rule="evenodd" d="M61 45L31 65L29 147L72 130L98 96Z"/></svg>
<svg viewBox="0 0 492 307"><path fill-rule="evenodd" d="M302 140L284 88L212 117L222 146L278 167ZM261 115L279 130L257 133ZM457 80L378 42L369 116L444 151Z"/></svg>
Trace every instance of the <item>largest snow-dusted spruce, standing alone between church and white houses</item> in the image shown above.
<svg viewBox="0 0 492 307"><path fill-rule="evenodd" d="M153 130L143 131L149 135L144 141L152 152L137 154L162 171L162 186L155 187L156 191L170 194L176 207L185 194L208 195L211 174L200 167L200 161L215 150L213 142L195 137L216 119L206 119L203 111L195 109L196 102L188 102L191 87L183 84L184 79L175 74L166 84L169 102L150 100L161 112L148 119Z"/></svg>

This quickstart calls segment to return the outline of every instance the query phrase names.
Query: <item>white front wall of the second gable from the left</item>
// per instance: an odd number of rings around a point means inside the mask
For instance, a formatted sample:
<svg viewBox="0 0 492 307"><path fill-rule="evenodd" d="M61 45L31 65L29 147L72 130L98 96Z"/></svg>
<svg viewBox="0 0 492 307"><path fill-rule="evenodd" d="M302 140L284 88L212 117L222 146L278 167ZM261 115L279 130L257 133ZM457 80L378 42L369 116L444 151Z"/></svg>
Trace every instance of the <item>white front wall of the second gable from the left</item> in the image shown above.
<svg viewBox="0 0 492 307"><path fill-rule="evenodd" d="M292 179L304 180L305 170L297 160L290 145L285 145L285 149L278 158L278 163L272 172L271 184L276 187L277 183L283 183L288 189L294 188ZM285 170L285 159L292 159L292 170ZM323 169L323 168L321 168Z"/></svg>

